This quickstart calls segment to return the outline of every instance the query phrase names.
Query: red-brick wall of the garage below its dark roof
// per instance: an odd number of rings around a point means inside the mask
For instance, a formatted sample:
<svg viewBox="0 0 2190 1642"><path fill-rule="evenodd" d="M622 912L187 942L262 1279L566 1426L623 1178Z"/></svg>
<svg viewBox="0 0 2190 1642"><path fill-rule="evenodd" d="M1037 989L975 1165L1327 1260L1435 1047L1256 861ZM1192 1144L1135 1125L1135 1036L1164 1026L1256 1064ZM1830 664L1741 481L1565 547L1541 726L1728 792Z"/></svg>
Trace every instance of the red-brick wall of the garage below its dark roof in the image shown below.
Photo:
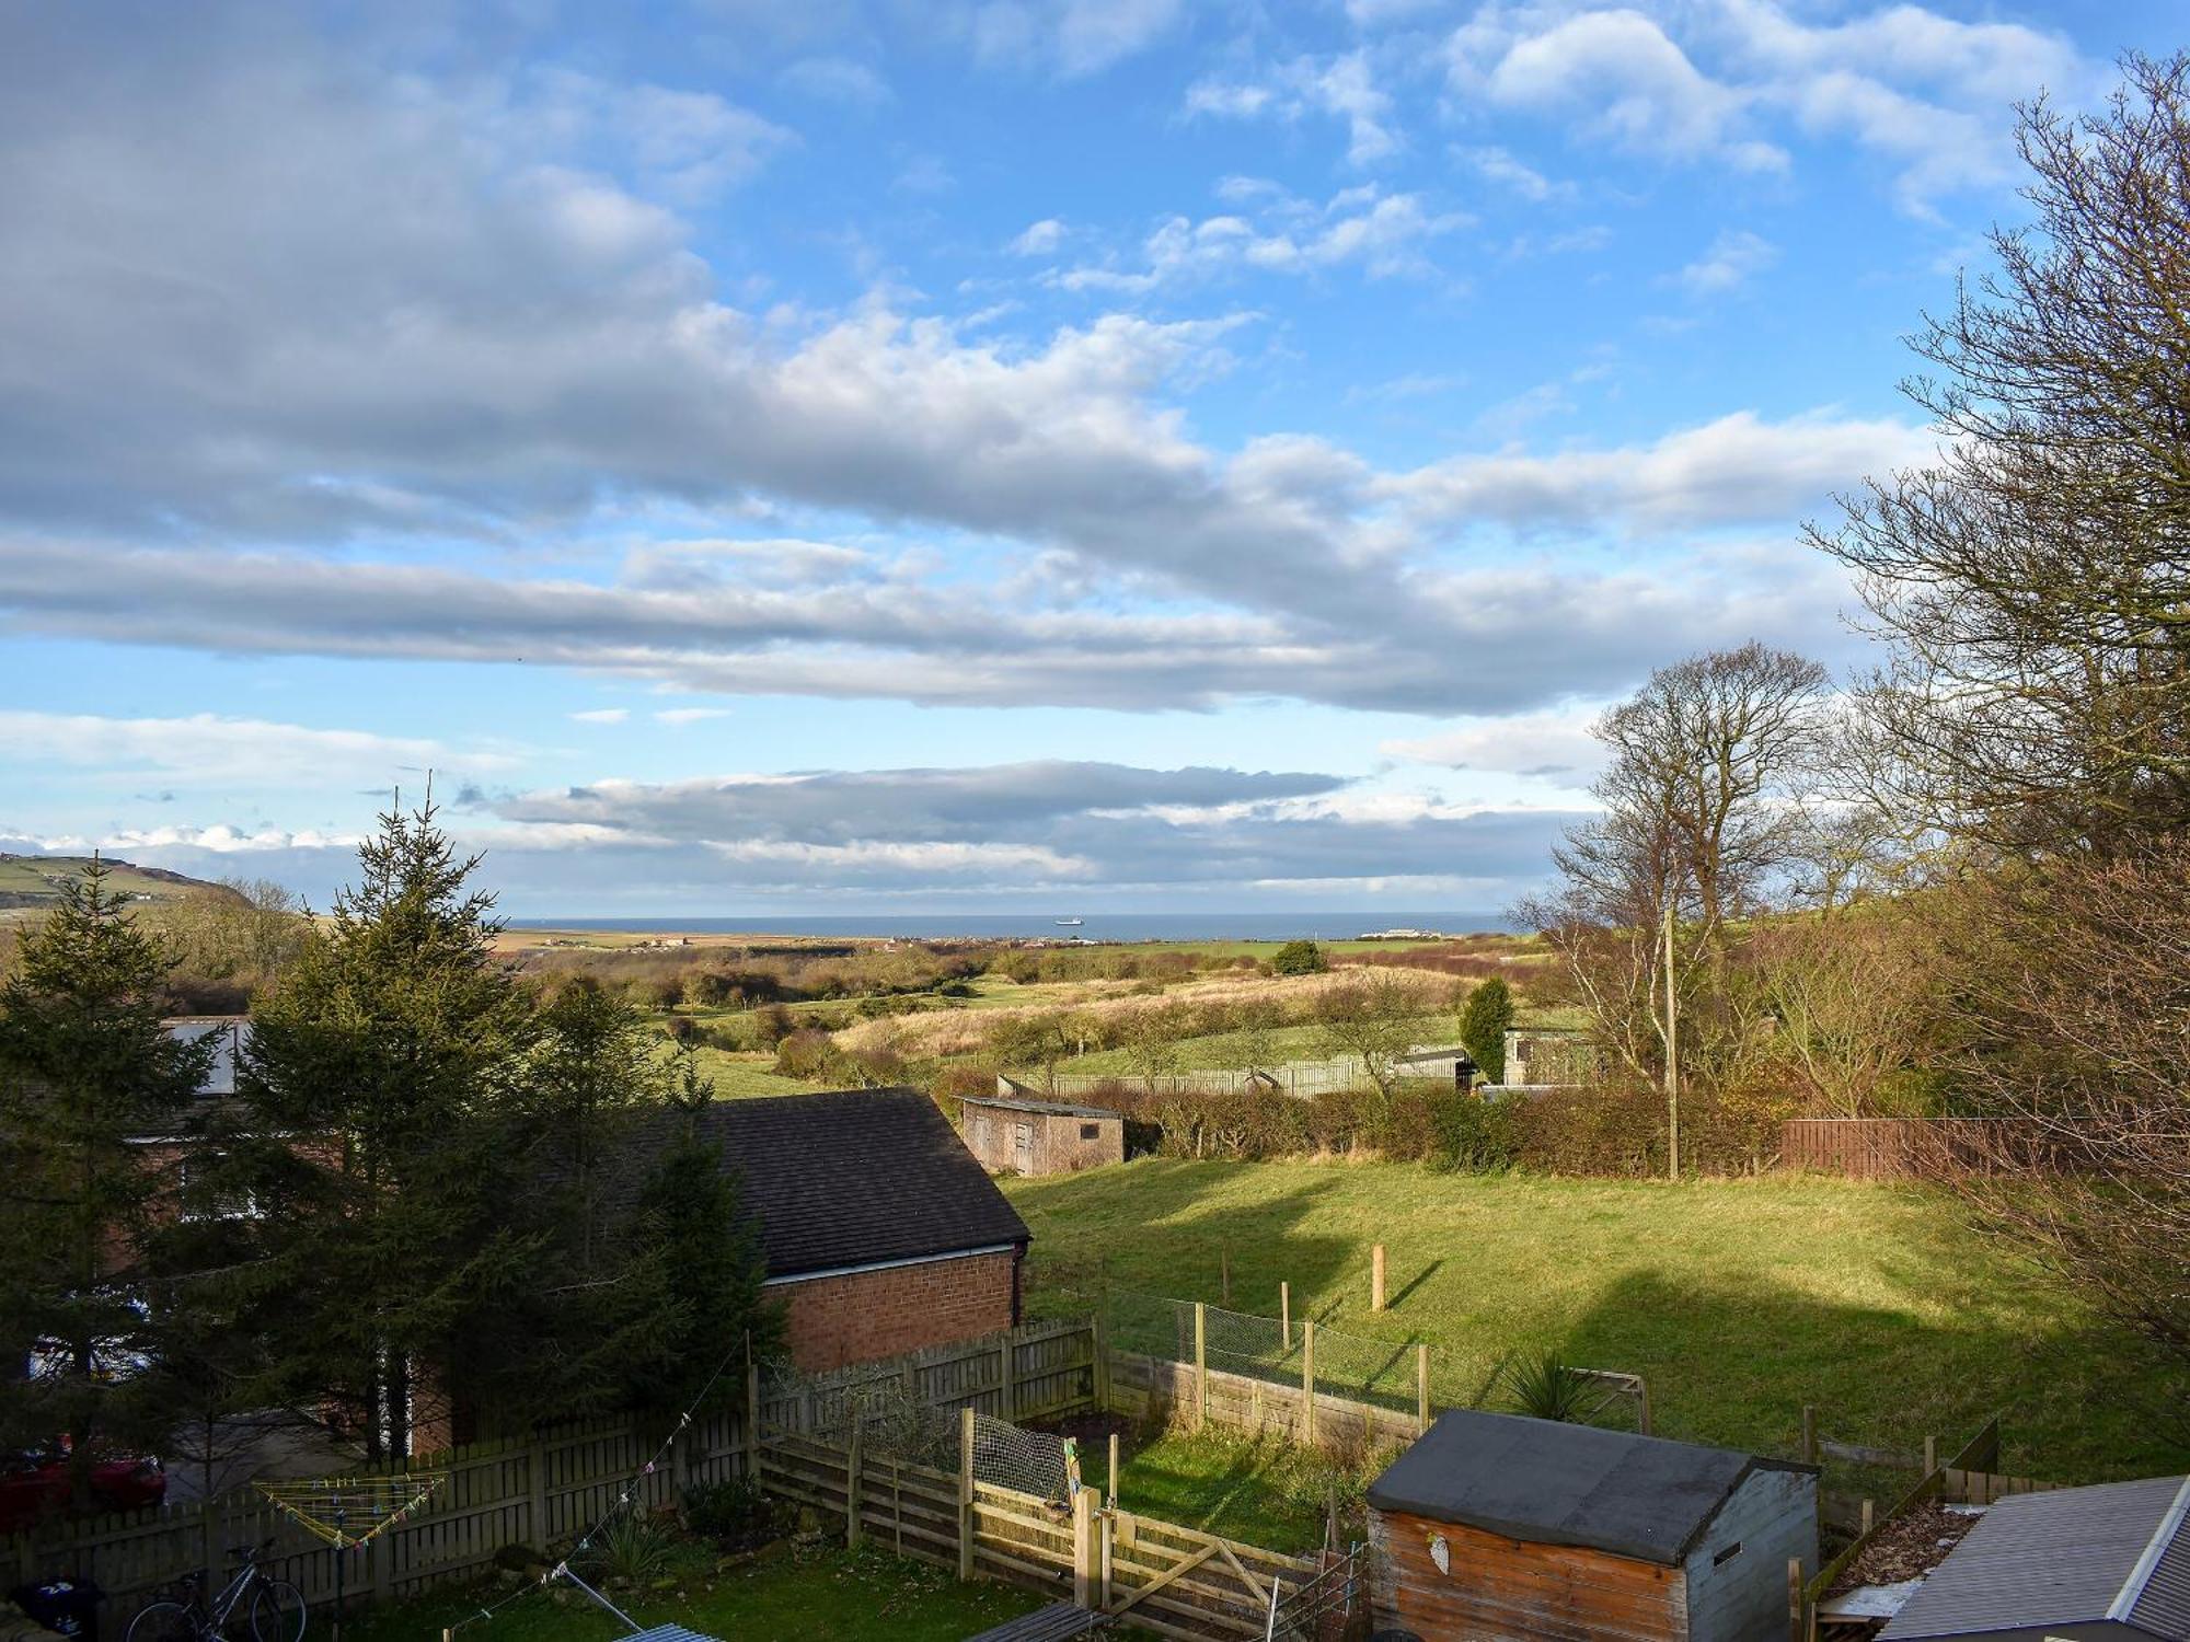
<svg viewBox="0 0 2190 1642"><path fill-rule="evenodd" d="M1012 1254L964 1254L775 1290L791 1360L808 1373L1010 1329Z"/></svg>

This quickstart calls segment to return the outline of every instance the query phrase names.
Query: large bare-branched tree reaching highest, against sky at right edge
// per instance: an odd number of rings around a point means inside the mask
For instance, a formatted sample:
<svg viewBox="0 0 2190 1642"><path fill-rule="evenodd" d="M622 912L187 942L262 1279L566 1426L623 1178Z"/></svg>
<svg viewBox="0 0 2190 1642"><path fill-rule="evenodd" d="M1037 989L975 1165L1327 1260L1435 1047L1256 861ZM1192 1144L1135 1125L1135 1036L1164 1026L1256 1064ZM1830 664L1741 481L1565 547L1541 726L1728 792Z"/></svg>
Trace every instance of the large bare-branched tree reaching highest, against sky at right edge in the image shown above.
<svg viewBox="0 0 2190 1642"><path fill-rule="evenodd" d="M2124 70L2021 112L2037 221L1912 339L1938 460L1811 532L1892 646L1879 795L1993 847L2190 823L2190 57Z"/></svg>

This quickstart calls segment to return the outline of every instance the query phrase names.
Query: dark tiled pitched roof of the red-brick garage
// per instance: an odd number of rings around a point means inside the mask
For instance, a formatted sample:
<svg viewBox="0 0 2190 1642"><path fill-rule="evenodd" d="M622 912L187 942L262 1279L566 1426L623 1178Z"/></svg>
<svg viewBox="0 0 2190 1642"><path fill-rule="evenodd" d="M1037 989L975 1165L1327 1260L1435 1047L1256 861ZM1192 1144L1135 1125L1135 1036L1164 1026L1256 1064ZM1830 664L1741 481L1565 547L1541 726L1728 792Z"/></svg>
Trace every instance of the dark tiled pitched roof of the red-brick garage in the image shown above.
<svg viewBox="0 0 2190 1642"><path fill-rule="evenodd" d="M681 1112L650 1121L633 1163L650 1160L681 1123ZM714 1101L699 1123L760 1217L769 1276L1029 1239L1027 1222L918 1088ZM635 1193L639 1178L639 1167L624 1171L624 1191Z"/></svg>

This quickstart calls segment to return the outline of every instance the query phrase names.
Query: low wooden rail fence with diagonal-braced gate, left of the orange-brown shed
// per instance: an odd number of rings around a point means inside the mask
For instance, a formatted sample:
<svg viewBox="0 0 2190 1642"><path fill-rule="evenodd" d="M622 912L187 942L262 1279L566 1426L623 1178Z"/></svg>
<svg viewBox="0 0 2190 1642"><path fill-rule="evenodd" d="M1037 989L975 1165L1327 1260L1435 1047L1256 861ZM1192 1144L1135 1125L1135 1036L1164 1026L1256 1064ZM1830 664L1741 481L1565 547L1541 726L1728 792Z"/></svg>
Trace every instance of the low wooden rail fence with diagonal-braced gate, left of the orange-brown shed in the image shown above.
<svg viewBox="0 0 2190 1642"><path fill-rule="evenodd" d="M865 1447L760 1427L762 1487L843 1524L845 1541L889 1546L955 1568L961 1579L1071 1598L1172 1638L1261 1638L1272 1587L1312 1581L1318 1563L1104 1504L1071 1504L975 1476L972 1421L959 1469L942 1471Z"/></svg>

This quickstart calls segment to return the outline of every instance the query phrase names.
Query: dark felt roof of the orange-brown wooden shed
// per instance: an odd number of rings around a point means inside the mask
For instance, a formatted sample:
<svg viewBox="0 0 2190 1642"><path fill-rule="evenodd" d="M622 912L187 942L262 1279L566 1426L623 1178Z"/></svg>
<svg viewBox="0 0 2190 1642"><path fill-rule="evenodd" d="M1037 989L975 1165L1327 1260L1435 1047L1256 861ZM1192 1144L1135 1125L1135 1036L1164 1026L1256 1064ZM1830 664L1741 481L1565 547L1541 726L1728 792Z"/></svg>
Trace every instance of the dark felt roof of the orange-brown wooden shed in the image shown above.
<svg viewBox="0 0 2190 1642"><path fill-rule="evenodd" d="M1520 1414L1452 1410L1369 1487L1378 1511L1678 1565L1756 1469L1724 1447Z"/></svg>

